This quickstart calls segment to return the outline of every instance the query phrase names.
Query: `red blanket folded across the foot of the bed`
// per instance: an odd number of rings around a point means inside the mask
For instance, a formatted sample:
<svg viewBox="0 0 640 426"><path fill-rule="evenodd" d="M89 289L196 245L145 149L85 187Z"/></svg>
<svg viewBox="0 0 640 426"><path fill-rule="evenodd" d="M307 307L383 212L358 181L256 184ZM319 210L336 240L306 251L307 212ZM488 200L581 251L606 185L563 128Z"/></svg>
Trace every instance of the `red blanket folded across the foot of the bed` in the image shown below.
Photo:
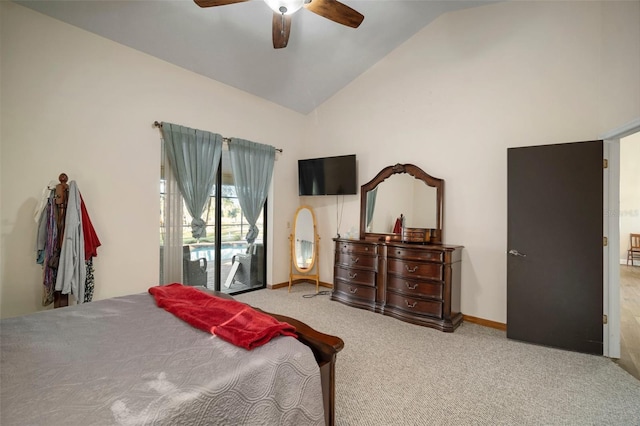
<svg viewBox="0 0 640 426"><path fill-rule="evenodd" d="M264 345L276 336L296 337L295 327L258 312L237 300L223 299L174 283L151 287L149 293L164 308L192 326L245 349Z"/></svg>

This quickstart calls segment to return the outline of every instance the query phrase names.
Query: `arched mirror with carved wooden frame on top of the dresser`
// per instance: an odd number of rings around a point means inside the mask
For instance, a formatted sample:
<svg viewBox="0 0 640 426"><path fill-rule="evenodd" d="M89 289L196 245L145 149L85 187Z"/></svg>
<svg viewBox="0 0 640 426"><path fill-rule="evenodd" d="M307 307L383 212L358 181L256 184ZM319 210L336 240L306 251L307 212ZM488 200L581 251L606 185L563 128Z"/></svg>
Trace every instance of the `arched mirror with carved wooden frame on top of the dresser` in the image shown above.
<svg viewBox="0 0 640 426"><path fill-rule="evenodd" d="M444 180L413 164L385 167L360 187L360 235L367 240L401 240L396 221L430 230L429 242L442 243ZM396 229L397 231L397 229Z"/></svg>

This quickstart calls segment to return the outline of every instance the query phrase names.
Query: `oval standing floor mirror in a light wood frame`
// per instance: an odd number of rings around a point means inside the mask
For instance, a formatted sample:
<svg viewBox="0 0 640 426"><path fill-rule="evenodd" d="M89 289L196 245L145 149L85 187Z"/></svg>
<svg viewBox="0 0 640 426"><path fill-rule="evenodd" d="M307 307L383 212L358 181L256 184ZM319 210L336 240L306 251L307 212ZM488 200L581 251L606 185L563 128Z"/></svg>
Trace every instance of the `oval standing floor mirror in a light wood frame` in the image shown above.
<svg viewBox="0 0 640 426"><path fill-rule="evenodd" d="M316 293L320 286L318 272L318 241L316 216L309 206L300 206L293 217L293 232L289 235L291 261L289 262L289 291L294 280L314 280Z"/></svg>

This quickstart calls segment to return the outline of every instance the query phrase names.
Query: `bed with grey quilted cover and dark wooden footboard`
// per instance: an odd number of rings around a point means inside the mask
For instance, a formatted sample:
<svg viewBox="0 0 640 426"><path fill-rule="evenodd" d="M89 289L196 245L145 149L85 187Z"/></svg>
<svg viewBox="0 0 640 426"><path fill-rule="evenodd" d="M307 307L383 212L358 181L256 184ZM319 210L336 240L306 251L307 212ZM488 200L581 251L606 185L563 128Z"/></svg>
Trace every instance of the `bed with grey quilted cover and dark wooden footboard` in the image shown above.
<svg viewBox="0 0 640 426"><path fill-rule="evenodd" d="M293 325L297 339L246 350L148 293L3 319L0 423L334 424L342 340L269 315Z"/></svg>

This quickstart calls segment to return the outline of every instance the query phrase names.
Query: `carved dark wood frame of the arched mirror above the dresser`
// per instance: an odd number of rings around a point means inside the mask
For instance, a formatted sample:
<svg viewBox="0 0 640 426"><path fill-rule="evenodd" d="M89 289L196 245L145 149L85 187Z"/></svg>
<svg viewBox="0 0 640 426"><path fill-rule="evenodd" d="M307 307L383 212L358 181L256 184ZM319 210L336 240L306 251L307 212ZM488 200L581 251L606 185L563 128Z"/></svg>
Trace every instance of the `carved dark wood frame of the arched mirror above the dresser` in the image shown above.
<svg viewBox="0 0 640 426"><path fill-rule="evenodd" d="M443 233L443 204L444 204L444 179L433 177L413 164L396 164L382 169L376 177L360 187L360 238L365 240L400 240L401 236L395 234L382 234L376 232L366 232L367 230L367 193L376 188L387 178L395 174L407 173L425 183L425 185L436 189L436 228L431 235L432 244L442 244Z"/></svg>

